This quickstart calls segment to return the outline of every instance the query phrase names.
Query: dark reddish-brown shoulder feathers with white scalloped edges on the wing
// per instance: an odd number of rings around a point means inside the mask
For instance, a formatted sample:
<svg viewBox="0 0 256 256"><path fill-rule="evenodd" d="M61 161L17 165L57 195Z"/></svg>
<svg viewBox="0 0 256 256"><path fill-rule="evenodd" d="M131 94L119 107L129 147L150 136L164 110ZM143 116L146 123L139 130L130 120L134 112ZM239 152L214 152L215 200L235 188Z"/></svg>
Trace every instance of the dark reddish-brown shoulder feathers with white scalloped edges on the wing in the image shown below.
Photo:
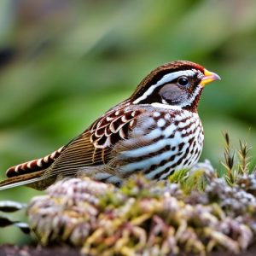
<svg viewBox="0 0 256 256"><path fill-rule="evenodd" d="M96 148L108 148L128 136L139 110L113 110L98 119L90 129L90 142Z"/></svg>

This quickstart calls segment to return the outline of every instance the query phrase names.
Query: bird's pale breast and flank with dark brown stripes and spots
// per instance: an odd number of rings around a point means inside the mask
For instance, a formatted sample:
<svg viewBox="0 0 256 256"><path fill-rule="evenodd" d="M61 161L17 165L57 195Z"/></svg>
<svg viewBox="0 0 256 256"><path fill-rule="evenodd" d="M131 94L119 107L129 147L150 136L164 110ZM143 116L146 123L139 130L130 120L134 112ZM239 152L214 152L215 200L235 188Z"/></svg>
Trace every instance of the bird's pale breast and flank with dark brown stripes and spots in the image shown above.
<svg viewBox="0 0 256 256"><path fill-rule="evenodd" d="M124 176L143 172L148 178L165 178L198 161L203 139L197 113L186 110L143 113L128 139L118 146L119 172Z"/></svg>

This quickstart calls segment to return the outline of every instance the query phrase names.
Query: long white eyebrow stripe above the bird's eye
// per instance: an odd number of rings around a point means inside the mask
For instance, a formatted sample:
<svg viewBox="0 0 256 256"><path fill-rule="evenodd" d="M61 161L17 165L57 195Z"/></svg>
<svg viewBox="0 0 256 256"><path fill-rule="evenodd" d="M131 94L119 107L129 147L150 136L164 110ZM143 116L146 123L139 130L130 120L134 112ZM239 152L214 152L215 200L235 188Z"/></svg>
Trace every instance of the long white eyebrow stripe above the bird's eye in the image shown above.
<svg viewBox="0 0 256 256"><path fill-rule="evenodd" d="M143 100L147 99L147 97L152 94L152 92L154 91L155 88L159 87L162 84L166 84L168 82L171 82L175 79L177 79L178 77L181 76L188 76L188 77L192 77L193 75L195 75L196 70L195 69L188 69L188 70L183 70L183 71L177 71L177 72L173 72L173 73L167 73L166 75L164 75L156 84L152 84L148 90L146 90L143 93L143 96L140 96L137 98L137 100L135 100L134 102L132 102L133 104L137 104L139 102L142 102Z"/></svg>

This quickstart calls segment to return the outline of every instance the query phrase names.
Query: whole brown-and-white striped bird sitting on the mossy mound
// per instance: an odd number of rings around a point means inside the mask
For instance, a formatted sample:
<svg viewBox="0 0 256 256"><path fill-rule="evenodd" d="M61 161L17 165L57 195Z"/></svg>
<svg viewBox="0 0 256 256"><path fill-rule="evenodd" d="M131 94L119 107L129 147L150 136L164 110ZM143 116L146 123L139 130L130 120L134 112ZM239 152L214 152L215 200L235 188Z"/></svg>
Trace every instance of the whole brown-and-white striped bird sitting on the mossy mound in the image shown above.
<svg viewBox="0 0 256 256"><path fill-rule="evenodd" d="M0 190L44 190L65 177L121 185L136 174L162 180L194 166L204 143L197 106L217 73L191 61L171 61L149 73L131 96L52 154L10 167Z"/></svg>

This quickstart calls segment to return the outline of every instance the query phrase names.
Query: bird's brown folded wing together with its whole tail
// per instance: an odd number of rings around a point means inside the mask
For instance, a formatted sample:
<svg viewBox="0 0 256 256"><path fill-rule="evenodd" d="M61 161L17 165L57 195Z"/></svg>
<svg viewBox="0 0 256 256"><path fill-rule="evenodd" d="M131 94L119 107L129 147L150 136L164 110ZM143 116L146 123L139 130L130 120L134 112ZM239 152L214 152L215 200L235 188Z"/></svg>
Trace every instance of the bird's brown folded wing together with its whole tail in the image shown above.
<svg viewBox="0 0 256 256"><path fill-rule="evenodd" d="M114 158L113 154L116 154L113 147L119 140L128 137L137 115L141 113L140 110L121 107L123 106L120 105L119 110L114 108L97 119L89 130L84 131L67 146L39 160L9 168L9 179L0 183L1 189L38 181L49 184L48 180L53 183L59 177L74 176L77 172L86 168L93 169L94 166L95 169L103 166L103 172L113 172L112 167L108 165L109 160Z"/></svg>

